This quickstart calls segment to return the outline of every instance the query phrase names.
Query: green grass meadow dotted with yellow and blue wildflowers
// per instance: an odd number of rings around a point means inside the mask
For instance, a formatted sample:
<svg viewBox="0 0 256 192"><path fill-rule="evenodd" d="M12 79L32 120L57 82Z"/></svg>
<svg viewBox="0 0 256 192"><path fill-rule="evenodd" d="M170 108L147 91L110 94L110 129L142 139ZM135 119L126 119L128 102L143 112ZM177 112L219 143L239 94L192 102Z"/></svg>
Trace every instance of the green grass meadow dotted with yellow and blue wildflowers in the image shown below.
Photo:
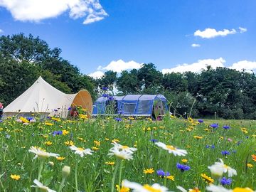
<svg viewBox="0 0 256 192"><path fill-rule="evenodd" d="M48 188L55 191L117 191L116 185L121 185L124 179L142 185L159 183L169 191L178 191L176 186L206 191L206 186L212 182L208 177L214 179L215 185L223 183L220 182L223 176L228 178L228 173L217 178L208 169L219 159L237 171L230 185L223 184L225 188L255 189L256 158L254 161L252 158L256 154L255 121L204 120L198 123L196 119L170 117L159 122L132 118L117 120L120 119L4 120L0 123L0 191L49 191ZM210 124L218 124L218 127L210 127ZM108 155L114 146L113 140L122 144L122 149L137 148L133 154L129 153L133 159L128 161ZM185 149L188 154L174 156L157 146L158 142ZM70 149L71 145L93 152L81 157ZM28 151L31 146L63 158L39 154L34 159L35 154ZM183 171L177 164L190 169ZM69 175L64 171L67 177L63 176L63 166L70 166ZM201 174L208 177L203 178ZM48 188L31 187L36 185L34 179Z"/></svg>

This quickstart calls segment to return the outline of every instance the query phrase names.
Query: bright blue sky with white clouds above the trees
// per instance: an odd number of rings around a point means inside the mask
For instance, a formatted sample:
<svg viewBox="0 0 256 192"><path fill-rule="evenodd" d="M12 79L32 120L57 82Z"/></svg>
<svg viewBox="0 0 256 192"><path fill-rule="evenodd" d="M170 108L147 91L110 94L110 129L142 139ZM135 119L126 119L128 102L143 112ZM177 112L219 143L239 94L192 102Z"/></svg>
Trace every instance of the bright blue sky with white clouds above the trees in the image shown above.
<svg viewBox="0 0 256 192"><path fill-rule="evenodd" d="M85 74L141 63L165 73L256 69L255 0L39 1L0 0L0 35L39 36Z"/></svg>

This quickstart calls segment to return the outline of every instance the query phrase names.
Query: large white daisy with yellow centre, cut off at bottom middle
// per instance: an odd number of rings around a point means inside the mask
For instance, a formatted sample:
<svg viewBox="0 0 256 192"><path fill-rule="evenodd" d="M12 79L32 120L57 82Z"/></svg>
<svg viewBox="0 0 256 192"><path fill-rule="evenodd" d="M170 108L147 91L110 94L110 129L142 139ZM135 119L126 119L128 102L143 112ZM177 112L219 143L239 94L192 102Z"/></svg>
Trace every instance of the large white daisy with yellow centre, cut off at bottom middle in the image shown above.
<svg viewBox="0 0 256 192"><path fill-rule="evenodd" d="M134 192L151 192L151 191L168 192L168 188L166 188L165 186L160 186L159 183L154 183L152 186L149 186L149 185L142 186L139 183L124 180L122 185L124 187L133 189Z"/></svg>

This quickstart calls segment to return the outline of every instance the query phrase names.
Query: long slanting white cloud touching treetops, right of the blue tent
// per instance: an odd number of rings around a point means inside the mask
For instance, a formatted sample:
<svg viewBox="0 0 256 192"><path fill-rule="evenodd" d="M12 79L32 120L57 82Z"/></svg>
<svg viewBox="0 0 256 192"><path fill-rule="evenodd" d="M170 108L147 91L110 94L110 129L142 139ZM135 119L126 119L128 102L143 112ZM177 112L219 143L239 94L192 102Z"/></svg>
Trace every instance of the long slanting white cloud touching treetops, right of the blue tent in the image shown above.
<svg viewBox="0 0 256 192"><path fill-rule="evenodd" d="M212 66L212 68L224 67L225 60L223 58L218 59L204 59L198 60L196 63L183 63L181 65L176 66L175 68L163 69L162 73L183 73L186 71L191 72L200 72L202 69L206 69L208 65Z"/></svg>

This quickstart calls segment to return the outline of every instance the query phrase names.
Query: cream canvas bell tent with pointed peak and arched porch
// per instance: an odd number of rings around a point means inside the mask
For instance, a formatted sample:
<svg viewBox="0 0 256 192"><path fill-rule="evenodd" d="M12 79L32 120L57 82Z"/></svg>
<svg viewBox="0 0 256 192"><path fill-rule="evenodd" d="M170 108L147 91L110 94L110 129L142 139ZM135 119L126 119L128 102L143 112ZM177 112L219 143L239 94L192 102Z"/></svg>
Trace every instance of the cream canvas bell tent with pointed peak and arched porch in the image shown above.
<svg viewBox="0 0 256 192"><path fill-rule="evenodd" d="M82 106L92 112L92 97L87 90L65 94L39 77L23 94L4 108L4 117L31 116L40 113L46 116L68 117L70 107Z"/></svg>

